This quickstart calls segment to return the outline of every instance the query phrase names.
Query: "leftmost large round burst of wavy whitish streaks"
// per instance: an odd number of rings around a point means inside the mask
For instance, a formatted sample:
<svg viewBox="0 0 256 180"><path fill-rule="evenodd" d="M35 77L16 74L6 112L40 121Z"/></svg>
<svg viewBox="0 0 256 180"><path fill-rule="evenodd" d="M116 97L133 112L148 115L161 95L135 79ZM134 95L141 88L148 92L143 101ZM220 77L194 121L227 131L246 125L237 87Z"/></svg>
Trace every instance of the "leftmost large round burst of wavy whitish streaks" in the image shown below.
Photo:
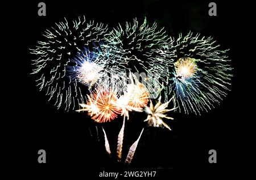
<svg viewBox="0 0 256 180"><path fill-rule="evenodd" d="M30 49L34 56L32 60L32 74L37 77L36 83L40 91L46 92L49 101L59 109L73 110L77 105L84 104L85 89L77 79L73 80L73 74L67 70L76 66L72 61L77 53L84 57L82 50L84 47L94 49L100 44L102 36L108 30L107 26L94 21L87 21L85 17L79 17L72 22L64 19L63 22L56 23L47 29L41 41L35 48ZM89 57L88 57L89 58ZM87 58L87 60L88 60ZM89 62L89 60L88 60ZM95 67L99 71L101 67ZM80 78L82 72L80 69ZM85 71L88 71L86 69ZM93 84L95 77L81 80L83 83Z"/></svg>

